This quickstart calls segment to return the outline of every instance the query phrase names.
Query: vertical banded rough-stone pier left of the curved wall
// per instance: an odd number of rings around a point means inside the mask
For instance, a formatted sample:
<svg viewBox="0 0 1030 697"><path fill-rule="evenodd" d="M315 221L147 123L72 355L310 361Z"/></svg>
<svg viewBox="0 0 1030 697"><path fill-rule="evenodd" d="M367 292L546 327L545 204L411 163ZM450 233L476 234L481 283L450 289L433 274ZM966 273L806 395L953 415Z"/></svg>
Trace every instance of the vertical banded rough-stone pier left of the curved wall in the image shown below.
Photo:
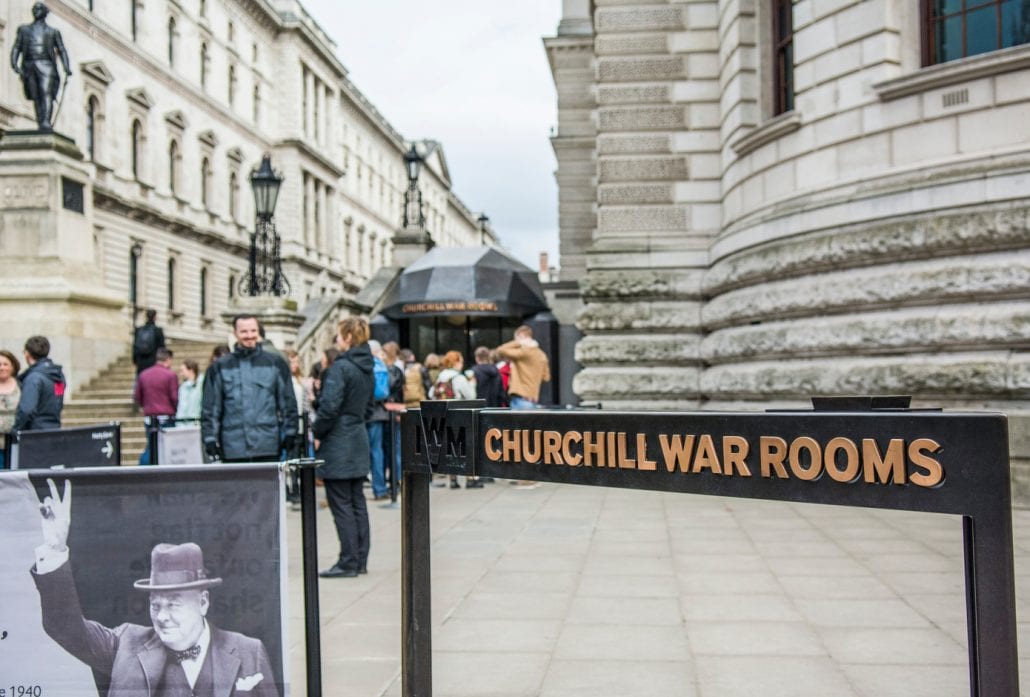
<svg viewBox="0 0 1030 697"><path fill-rule="evenodd" d="M717 24L714 1L611 0L595 12L597 226L575 380L584 402L700 405L700 282L719 225Z"/></svg>

